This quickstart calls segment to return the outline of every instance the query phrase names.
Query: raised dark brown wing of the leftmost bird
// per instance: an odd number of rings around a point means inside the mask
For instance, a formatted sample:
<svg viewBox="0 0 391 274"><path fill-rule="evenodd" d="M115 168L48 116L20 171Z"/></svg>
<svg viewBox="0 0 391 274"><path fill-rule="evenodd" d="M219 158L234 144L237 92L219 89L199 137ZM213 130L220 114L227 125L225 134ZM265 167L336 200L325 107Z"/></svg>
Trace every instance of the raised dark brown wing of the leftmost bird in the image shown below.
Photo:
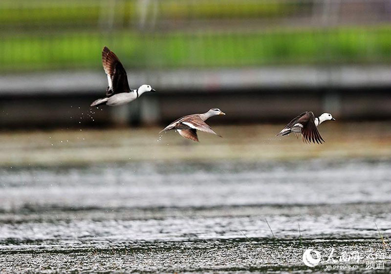
<svg viewBox="0 0 391 274"><path fill-rule="evenodd" d="M108 47L102 50L102 64L108 75L109 86L106 89L106 96L110 96L121 92L130 92L128 75L114 52Z"/></svg>

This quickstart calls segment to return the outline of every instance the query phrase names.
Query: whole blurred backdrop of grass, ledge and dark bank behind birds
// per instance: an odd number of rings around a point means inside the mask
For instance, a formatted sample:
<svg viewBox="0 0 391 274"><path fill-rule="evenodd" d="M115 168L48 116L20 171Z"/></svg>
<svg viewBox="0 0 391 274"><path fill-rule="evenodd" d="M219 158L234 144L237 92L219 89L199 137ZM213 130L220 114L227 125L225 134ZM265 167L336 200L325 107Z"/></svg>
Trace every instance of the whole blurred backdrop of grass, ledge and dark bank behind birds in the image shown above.
<svg viewBox="0 0 391 274"><path fill-rule="evenodd" d="M391 118L388 0L2 0L0 24L3 129ZM104 45L158 92L90 109Z"/></svg>

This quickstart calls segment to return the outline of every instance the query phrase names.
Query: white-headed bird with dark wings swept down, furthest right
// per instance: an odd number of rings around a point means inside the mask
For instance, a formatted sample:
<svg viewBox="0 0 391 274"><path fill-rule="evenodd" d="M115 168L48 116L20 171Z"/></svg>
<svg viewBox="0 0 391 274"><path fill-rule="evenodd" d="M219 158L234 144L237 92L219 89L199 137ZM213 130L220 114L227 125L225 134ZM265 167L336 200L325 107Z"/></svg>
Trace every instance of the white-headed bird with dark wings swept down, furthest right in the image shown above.
<svg viewBox="0 0 391 274"><path fill-rule="evenodd" d="M325 142L325 140L323 140L316 127L327 120L335 121L330 113L323 113L321 116L315 117L312 111L305 111L290 121L276 136L284 136L293 132L302 134L303 142L322 144L322 141Z"/></svg>

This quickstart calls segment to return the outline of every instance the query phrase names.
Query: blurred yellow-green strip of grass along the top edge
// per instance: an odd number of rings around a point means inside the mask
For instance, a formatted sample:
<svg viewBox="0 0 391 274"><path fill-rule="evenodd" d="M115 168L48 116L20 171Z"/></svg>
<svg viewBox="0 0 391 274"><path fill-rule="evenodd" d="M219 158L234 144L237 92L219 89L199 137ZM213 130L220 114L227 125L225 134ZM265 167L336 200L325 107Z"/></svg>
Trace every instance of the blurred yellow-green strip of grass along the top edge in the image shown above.
<svg viewBox="0 0 391 274"><path fill-rule="evenodd" d="M311 9L309 1L259 1L259 0L196 0L156 1L159 19L248 19L275 18L290 15L299 9ZM121 1L114 6L116 18L131 21L138 18L140 3ZM110 7L109 1L97 0L2 0L0 24L56 24L67 25L72 21L96 24L102 18L102 8Z"/></svg>

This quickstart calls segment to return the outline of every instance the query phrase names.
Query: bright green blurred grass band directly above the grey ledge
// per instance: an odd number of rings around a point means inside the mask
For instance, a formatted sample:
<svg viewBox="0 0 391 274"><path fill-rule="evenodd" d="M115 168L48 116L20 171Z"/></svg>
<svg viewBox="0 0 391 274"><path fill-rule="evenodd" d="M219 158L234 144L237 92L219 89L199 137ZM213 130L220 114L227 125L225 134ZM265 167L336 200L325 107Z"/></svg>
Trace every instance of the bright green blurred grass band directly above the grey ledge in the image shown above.
<svg viewBox="0 0 391 274"><path fill-rule="evenodd" d="M389 63L391 27L142 34L137 31L8 34L0 71L100 69L109 46L128 68Z"/></svg>

